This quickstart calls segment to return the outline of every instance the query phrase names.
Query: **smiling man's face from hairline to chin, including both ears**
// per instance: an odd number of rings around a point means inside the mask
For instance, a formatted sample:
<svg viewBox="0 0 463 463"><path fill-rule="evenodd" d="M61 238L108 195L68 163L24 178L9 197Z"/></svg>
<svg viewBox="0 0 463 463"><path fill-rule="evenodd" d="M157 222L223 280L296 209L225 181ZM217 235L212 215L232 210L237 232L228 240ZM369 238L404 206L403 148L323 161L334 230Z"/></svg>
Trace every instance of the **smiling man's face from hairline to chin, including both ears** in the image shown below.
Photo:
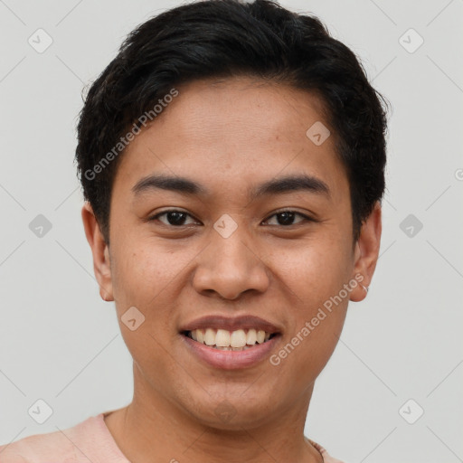
<svg viewBox="0 0 463 463"><path fill-rule="evenodd" d="M109 247L82 209L135 398L221 429L296 416L365 296L381 209L353 247L334 137L306 135L328 127L314 95L247 78L178 90L121 155Z"/></svg>

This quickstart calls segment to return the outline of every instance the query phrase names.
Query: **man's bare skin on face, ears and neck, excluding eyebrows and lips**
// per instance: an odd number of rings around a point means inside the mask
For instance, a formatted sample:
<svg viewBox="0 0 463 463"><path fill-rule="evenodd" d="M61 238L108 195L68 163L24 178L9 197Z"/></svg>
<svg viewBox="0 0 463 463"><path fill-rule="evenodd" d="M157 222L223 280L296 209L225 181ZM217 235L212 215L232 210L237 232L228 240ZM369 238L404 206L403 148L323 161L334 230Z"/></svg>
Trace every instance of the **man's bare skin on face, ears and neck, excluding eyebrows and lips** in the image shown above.
<svg viewBox="0 0 463 463"><path fill-rule="evenodd" d="M315 95L245 77L178 90L121 155L109 246L90 204L82 208L101 297L115 301L134 359L133 401L106 424L133 463L321 462L304 439L307 409L348 302L363 300L364 288L352 289L279 365L266 359L241 370L206 366L185 348L179 329L210 314L251 314L279 327L271 354L278 353L356 274L369 286L380 203L353 246L349 184L334 137L316 146L306 136L316 121L328 127ZM296 191L250 201L256 184L301 173L323 180L330 196ZM135 197L131 188L151 174L185 176L212 194L157 189ZM189 214L184 227L168 214L146 222L170 208ZM275 215L280 209L317 222L295 215L285 224ZM213 229L224 213L238 225L226 239ZM135 331L120 320L133 306L146 317ZM235 412L227 422L214 412L224 401Z"/></svg>

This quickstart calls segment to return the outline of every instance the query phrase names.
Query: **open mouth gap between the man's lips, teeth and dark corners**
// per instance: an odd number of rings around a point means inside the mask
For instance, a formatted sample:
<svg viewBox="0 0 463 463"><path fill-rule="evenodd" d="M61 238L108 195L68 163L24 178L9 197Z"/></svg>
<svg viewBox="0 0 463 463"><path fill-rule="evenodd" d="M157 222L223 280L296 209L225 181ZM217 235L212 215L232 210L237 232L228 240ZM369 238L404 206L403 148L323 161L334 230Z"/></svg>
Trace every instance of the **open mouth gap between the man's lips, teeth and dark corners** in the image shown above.
<svg viewBox="0 0 463 463"><path fill-rule="evenodd" d="M182 335L193 339L199 344L208 345L213 349L222 351L245 351L252 349L256 345L261 345L269 342L270 339L278 335L278 333L270 333L262 329L214 329L203 328L194 329L191 331L183 331Z"/></svg>

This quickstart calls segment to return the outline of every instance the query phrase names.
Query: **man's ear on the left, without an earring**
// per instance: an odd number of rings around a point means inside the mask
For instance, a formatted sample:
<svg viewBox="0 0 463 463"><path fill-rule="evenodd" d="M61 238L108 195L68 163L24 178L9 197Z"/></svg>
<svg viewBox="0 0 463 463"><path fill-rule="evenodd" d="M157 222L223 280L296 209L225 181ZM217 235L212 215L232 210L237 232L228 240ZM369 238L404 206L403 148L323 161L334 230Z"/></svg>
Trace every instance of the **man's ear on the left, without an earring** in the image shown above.
<svg viewBox="0 0 463 463"><path fill-rule="evenodd" d="M88 201L82 207L82 222L85 236L89 241L93 255L93 271L99 283L99 295L103 300L114 300L111 267L109 261L109 246L99 229L99 223Z"/></svg>

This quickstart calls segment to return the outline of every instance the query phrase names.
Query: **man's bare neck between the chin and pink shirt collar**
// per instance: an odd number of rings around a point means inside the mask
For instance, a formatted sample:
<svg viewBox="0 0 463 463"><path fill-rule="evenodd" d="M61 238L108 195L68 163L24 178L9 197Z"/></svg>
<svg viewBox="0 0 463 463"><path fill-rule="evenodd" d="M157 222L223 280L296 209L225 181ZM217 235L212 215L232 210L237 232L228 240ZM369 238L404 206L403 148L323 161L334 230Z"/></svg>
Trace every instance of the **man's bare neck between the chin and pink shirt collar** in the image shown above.
<svg viewBox="0 0 463 463"><path fill-rule="evenodd" d="M278 416L248 426L233 417L228 423L204 423L150 389L134 365L134 397L105 418L118 448L132 463L217 461L298 461L323 463L304 436L313 384ZM149 393L148 393L149 392ZM233 426L231 423L236 423ZM154 458L153 456L156 456Z"/></svg>

